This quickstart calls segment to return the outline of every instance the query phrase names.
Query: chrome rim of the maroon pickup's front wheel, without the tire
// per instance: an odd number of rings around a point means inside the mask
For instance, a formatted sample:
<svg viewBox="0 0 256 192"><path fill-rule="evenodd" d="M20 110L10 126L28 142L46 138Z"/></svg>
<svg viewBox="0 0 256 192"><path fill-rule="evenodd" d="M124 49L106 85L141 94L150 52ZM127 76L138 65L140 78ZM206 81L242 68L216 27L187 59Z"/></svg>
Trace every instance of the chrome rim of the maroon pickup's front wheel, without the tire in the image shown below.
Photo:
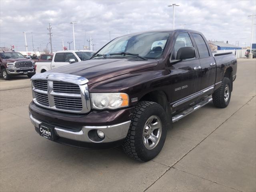
<svg viewBox="0 0 256 192"><path fill-rule="evenodd" d="M155 148L160 140L162 133L162 123L158 116L151 116L145 123L143 129L143 144L148 149L151 150Z"/></svg>

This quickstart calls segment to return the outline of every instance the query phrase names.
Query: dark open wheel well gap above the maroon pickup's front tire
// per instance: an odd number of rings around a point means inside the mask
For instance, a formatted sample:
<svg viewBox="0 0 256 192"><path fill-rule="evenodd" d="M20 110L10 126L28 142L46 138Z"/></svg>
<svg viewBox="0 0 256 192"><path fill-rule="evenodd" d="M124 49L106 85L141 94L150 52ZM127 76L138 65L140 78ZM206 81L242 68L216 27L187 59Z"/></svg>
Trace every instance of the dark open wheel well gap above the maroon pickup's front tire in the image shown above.
<svg viewBox="0 0 256 192"><path fill-rule="evenodd" d="M161 91L152 91L144 95L140 101L152 101L160 104L164 110L166 110L166 104L167 104L167 97L166 94Z"/></svg>

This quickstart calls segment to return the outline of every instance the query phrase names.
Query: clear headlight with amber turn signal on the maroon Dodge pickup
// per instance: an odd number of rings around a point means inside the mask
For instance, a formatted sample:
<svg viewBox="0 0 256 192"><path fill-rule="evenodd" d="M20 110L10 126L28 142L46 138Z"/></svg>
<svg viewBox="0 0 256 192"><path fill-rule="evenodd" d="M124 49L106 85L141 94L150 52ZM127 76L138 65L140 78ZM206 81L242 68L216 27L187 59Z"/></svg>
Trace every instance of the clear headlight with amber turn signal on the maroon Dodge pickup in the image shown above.
<svg viewBox="0 0 256 192"><path fill-rule="evenodd" d="M127 107L129 96L126 93L91 93L92 108L117 109Z"/></svg>

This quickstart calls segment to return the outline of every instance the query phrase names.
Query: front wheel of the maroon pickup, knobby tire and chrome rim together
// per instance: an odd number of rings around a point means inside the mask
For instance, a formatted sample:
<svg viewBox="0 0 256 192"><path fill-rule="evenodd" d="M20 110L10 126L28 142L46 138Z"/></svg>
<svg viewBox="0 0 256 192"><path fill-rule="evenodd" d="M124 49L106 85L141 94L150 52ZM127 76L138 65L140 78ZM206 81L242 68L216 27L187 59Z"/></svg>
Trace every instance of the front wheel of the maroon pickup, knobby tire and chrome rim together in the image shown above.
<svg viewBox="0 0 256 192"><path fill-rule="evenodd" d="M142 101L136 105L123 151L139 161L149 161L161 151L168 120L160 104Z"/></svg>

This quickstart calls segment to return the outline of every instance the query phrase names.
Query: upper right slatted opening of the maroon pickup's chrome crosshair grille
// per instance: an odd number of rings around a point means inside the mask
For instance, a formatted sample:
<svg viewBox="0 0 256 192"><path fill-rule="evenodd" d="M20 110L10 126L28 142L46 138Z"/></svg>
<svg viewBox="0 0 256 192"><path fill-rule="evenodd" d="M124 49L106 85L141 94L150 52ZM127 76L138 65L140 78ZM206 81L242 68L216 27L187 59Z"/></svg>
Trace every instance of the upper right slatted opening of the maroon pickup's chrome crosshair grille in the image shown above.
<svg viewBox="0 0 256 192"><path fill-rule="evenodd" d="M67 83L67 82L53 82L53 90L57 93L74 93L74 94L80 94L80 88L79 85L73 84L73 83Z"/></svg>

